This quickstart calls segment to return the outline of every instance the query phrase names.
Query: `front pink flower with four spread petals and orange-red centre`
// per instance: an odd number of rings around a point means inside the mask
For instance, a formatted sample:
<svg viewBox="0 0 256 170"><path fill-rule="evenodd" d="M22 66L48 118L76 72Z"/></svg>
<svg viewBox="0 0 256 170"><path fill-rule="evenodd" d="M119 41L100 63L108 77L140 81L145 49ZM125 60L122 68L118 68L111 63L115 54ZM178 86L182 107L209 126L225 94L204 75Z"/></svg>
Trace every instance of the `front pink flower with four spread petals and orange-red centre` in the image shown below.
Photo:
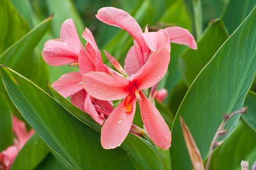
<svg viewBox="0 0 256 170"><path fill-rule="evenodd" d="M164 119L143 94L142 90L156 85L164 76L170 62L165 47L151 53L149 60L130 78L93 71L83 75L85 90L95 99L113 101L124 99L109 115L101 129L101 145L113 149L128 135L136 109L136 98L148 135L162 149L171 146L171 131Z"/></svg>

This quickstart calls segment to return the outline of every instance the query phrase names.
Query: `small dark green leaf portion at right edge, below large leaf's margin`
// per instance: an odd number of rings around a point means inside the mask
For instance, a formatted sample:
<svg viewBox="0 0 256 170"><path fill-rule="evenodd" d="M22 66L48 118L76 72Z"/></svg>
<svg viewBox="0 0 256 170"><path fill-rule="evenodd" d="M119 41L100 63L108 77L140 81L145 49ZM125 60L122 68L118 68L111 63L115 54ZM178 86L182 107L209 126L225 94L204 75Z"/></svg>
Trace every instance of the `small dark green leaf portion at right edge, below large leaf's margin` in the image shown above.
<svg viewBox="0 0 256 170"><path fill-rule="evenodd" d="M247 113L242 115L242 119L256 132L256 93L250 91L244 102L248 107Z"/></svg>

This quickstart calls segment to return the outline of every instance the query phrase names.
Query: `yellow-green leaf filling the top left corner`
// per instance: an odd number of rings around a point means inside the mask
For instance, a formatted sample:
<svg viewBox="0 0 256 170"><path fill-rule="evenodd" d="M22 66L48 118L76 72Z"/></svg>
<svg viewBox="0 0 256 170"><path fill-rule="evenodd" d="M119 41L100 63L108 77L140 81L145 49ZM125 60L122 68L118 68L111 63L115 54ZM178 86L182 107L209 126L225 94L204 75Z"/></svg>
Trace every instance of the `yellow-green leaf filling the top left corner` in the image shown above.
<svg viewBox="0 0 256 170"><path fill-rule="evenodd" d="M0 0L0 53L30 30L10 0Z"/></svg>

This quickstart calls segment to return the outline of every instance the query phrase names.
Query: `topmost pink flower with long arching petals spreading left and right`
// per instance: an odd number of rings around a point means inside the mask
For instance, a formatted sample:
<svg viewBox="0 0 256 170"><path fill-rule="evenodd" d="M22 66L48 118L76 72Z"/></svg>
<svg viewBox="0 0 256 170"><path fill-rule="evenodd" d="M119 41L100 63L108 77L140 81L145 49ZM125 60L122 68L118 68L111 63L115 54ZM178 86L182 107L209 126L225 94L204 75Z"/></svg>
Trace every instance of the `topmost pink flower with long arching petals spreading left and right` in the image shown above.
<svg viewBox="0 0 256 170"><path fill-rule="evenodd" d="M128 51L124 63L124 69L130 76L147 62L153 51L162 47L166 47L170 51L170 42L197 49L193 35L180 27L168 27L158 32L143 33L137 21L130 14L114 7L99 9L96 17L102 22L117 26L133 36L134 46Z"/></svg>

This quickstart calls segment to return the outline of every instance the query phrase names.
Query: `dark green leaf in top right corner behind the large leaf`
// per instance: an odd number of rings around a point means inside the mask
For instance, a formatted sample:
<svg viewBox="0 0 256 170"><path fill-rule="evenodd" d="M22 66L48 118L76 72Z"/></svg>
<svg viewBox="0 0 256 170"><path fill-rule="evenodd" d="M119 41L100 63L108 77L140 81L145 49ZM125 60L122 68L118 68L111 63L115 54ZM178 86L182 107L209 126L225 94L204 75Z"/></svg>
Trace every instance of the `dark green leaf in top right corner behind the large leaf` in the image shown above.
<svg viewBox="0 0 256 170"><path fill-rule="evenodd" d="M221 18L230 34L236 30L255 5L256 0L229 0Z"/></svg>

